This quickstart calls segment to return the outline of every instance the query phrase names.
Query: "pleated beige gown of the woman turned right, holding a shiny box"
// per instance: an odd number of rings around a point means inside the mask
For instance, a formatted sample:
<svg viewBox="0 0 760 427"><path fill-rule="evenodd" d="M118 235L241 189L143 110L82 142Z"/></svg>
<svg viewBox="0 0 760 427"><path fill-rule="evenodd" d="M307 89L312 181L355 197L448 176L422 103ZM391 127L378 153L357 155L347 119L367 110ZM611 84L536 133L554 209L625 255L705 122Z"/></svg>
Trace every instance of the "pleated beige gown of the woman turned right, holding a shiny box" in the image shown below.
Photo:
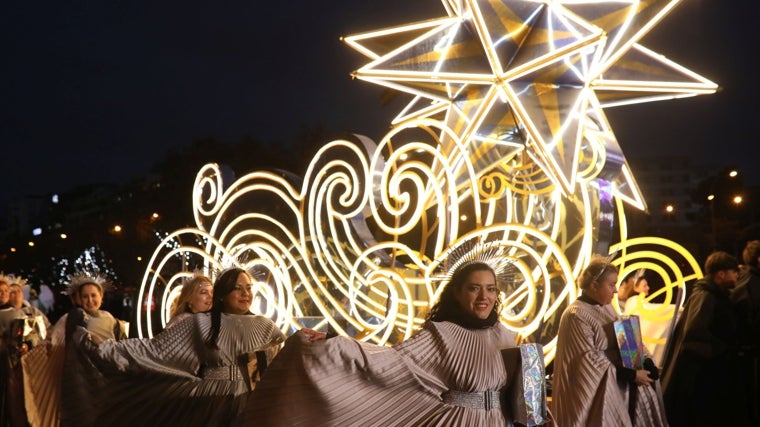
<svg viewBox="0 0 760 427"><path fill-rule="evenodd" d="M659 381L636 386L633 420L630 383L618 379L622 366L613 329L612 305L581 296L562 314L552 383L556 424L573 426L666 426Z"/></svg>

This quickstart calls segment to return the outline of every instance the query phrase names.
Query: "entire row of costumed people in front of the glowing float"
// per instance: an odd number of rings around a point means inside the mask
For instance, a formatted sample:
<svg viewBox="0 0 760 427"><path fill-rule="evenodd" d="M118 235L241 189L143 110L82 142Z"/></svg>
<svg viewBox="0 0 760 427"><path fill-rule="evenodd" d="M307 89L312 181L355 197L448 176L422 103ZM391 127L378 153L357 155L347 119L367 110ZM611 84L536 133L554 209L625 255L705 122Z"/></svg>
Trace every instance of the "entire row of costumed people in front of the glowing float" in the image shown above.
<svg viewBox="0 0 760 427"><path fill-rule="evenodd" d="M9 302L16 280L3 276L2 426L522 425L527 396L507 392L521 373L505 353L521 339L500 322L501 268L460 263L423 326L393 346L308 328L286 337L251 313L242 268L214 280L196 272L153 338L127 338L100 309L103 277L73 277L75 308L51 326ZM717 252L705 273L660 372L646 348L642 366L625 366L613 328L624 318L612 305L618 270L592 257L560 319L541 424L758 425L760 241L743 266Z"/></svg>

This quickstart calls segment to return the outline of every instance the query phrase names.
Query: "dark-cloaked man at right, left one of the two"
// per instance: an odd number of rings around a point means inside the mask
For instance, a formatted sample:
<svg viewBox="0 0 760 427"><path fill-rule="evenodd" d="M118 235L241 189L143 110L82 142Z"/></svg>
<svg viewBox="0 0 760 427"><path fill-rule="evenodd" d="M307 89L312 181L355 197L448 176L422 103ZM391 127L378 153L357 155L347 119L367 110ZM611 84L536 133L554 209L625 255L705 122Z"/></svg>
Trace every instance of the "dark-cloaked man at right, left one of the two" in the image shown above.
<svg viewBox="0 0 760 427"><path fill-rule="evenodd" d="M746 425L745 418L736 418L746 404L736 390L736 320L729 301L738 270L735 257L710 254L706 276L695 284L676 323L662 374L671 426Z"/></svg>

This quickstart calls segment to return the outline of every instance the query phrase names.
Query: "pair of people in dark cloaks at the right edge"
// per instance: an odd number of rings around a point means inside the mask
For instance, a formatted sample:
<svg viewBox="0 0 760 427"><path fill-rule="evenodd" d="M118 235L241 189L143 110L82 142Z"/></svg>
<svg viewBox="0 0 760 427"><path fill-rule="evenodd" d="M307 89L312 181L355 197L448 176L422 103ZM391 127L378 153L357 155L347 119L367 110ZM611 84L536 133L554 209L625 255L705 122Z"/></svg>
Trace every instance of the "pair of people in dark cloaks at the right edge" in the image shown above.
<svg viewBox="0 0 760 427"><path fill-rule="evenodd" d="M662 377L671 425L760 425L760 241L742 258L712 253L687 295Z"/></svg>

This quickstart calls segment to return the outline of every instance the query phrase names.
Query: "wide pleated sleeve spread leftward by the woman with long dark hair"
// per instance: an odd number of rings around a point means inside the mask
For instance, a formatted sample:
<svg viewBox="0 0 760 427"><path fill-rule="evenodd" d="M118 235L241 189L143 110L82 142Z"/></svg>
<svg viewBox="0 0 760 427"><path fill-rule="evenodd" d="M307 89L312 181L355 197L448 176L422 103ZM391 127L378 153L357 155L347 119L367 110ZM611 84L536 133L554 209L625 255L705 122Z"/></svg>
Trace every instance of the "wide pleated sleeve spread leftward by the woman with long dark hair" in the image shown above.
<svg viewBox="0 0 760 427"><path fill-rule="evenodd" d="M70 320L70 319L68 319ZM154 339L109 340L100 346L89 331L76 327L67 338L62 382L61 425L153 424L166 419L162 405L172 403L183 415L182 398L200 380L192 352L192 319L185 327Z"/></svg>

